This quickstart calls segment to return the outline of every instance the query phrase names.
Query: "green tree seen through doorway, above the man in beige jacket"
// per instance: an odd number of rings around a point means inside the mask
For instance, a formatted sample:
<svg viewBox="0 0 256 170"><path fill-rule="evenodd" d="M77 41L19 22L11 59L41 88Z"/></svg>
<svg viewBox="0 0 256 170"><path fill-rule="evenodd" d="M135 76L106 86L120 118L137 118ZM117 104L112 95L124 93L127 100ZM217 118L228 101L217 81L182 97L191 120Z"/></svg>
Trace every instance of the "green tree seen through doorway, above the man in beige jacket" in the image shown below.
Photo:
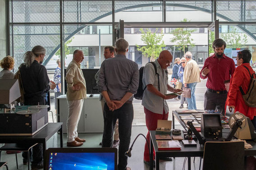
<svg viewBox="0 0 256 170"><path fill-rule="evenodd" d="M187 22L187 18L184 18L182 22ZM173 30L170 34L173 34L173 38L170 39L172 43L176 43L177 45L174 45L178 47L178 50L183 50L185 55L185 48L187 46L194 47L195 44L192 43L194 39L191 38L191 33L195 32L195 29L189 29L189 28L176 28Z"/></svg>

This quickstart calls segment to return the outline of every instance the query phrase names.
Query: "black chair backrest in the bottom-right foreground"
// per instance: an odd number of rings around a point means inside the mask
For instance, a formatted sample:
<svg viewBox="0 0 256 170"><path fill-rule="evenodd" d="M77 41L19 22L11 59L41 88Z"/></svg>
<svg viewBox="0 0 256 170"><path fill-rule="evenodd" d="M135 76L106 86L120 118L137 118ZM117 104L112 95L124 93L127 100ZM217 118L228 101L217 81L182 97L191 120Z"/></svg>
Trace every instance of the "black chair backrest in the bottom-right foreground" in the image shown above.
<svg viewBox="0 0 256 170"><path fill-rule="evenodd" d="M206 142L203 170L244 170L244 142Z"/></svg>

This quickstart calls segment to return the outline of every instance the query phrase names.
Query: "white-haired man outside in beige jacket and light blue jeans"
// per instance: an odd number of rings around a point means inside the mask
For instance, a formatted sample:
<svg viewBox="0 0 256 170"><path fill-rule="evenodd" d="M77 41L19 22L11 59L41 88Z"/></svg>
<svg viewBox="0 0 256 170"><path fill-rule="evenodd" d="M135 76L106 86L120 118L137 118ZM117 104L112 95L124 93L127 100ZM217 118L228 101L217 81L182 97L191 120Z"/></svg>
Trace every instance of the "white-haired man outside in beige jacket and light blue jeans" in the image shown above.
<svg viewBox="0 0 256 170"><path fill-rule="evenodd" d="M200 72L197 62L192 60L192 53L186 52L184 56L187 60L187 65L184 70L183 74L183 83L184 86L190 88L191 90L191 98L187 98L188 109L197 109L196 105L196 97L195 97L195 90L198 82L200 80Z"/></svg>

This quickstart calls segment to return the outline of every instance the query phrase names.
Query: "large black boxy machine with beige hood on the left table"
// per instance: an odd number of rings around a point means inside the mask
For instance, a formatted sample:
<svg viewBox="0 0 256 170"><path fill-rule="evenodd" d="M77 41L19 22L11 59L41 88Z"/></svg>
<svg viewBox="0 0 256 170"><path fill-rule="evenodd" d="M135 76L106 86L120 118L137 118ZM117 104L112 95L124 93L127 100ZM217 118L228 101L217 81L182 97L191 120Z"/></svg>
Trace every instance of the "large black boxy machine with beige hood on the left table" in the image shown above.
<svg viewBox="0 0 256 170"><path fill-rule="evenodd" d="M0 136L34 135L48 124L48 105L14 106L20 97L18 79L0 80Z"/></svg>

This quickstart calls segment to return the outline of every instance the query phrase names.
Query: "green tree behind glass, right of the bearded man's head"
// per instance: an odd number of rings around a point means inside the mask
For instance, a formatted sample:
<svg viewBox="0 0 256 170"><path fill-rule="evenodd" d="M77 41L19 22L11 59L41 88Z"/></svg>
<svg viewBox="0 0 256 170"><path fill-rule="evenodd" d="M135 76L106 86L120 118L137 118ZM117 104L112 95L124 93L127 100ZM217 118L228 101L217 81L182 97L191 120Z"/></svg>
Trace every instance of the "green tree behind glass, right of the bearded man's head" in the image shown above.
<svg viewBox="0 0 256 170"><path fill-rule="evenodd" d="M247 35L239 33L234 26L230 26L227 33L221 33L220 37L227 43L227 48L243 48L248 42Z"/></svg>

